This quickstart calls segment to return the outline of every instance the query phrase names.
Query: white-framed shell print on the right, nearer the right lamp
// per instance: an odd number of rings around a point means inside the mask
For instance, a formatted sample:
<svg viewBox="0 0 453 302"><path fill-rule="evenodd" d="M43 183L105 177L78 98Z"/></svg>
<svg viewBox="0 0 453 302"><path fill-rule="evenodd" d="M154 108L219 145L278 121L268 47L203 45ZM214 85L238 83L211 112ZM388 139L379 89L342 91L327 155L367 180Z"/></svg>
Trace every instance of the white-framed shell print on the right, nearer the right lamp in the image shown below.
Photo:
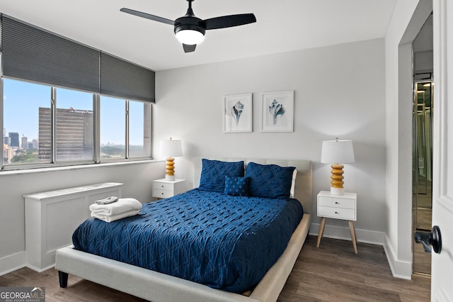
<svg viewBox="0 0 453 302"><path fill-rule="evenodd" d="M263 93L261 132L292 132L294 90Z"/></svg>

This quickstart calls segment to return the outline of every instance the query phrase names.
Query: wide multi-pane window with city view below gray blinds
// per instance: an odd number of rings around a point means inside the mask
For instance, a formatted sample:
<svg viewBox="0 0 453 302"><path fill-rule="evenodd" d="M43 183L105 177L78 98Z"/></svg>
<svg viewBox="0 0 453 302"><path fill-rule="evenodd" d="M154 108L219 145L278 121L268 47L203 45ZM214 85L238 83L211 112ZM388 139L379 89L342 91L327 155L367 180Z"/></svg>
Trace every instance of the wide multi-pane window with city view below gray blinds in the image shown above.
<svg viewBox="0 0 453 302"><path fill-rule="evenodd" d="M151 157L149 102L8 78L3 91L6 169Z"/></svg>

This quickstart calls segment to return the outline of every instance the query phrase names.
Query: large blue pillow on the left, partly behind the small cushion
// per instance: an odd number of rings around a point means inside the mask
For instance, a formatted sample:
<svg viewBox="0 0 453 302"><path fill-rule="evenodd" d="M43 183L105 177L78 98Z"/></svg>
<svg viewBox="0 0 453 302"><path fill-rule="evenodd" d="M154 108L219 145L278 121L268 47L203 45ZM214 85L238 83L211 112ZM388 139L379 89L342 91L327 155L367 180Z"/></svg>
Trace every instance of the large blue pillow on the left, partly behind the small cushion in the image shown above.
<svg viewBox="0 0 453 302"><path fill-rule="evenodd" d="M200 186L203 191L223 193L225 190L225 177L243 177L243 161L222 162L220 160L202 160Z"/></svg>

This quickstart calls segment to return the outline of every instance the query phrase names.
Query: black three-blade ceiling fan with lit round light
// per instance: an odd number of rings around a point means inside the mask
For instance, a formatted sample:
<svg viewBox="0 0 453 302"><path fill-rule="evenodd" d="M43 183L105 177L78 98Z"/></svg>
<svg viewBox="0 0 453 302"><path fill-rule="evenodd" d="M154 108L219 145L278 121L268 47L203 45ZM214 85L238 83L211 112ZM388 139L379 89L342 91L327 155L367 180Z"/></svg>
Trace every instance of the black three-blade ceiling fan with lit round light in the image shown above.
<svg viewBox="0 0 453 302"><path fill-rule="evenodd" d="M184 16L177 18L175 21L154 16L149 13L142 13L141 11L134 11L132 9L123 8L120 9L120 11L174 26L176 38L180 41L180 43L183 43L184 52L195 51L197 44L200 44L202 40L204 40L206 30L241 26L256 22L255 15L253 15L253 13L241 13L237 15L221 16L202 20L197 18L193 13L192 2L194 0L187 1L189 2L187 13L185 13Z"/></svg>

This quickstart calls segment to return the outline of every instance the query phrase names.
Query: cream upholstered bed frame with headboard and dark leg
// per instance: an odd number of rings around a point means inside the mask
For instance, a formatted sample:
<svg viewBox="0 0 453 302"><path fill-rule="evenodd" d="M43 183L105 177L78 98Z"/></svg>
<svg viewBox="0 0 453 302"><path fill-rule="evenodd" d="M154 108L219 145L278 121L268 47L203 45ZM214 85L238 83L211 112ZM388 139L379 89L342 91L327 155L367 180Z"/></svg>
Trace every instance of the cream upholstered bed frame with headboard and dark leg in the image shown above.
<svg viewBox="0 0 453 302"><path fill-rule="evenodd" d="M212 159L212 158L211 158ZM130 293L149 301L277 301L292 267L296 262L310 226L311 213L311 162L308 160L259 160L217 158L217 160L244 160L258 164L278 164L297 168L294 198L301 201L304 216L290 238L285 252L265 274L249 296L230 293L193 281L176 278L142 267L117 262L64 247L57 250L55 269L59 271L61 287L67 286L68 274ZM201 157L194 160L194 187L200 181Z"/></svg>

